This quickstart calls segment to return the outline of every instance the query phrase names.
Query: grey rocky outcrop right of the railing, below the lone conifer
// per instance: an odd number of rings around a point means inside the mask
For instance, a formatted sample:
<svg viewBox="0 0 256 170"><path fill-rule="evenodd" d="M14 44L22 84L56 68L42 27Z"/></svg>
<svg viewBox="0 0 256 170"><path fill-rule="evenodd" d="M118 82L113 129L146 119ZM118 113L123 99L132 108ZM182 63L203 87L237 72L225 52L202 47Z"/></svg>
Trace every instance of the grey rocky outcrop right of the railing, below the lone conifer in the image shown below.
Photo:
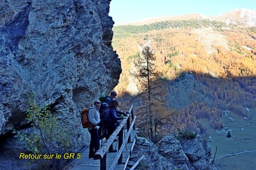
<svg viewBox="0 0 256 170"><path fill-rule="evenodd" d="M146 156L138 169L218 169L210 163L210 148L199 135L193 139L177 139L171 134L156 145L138 138L136 144L133 154Z"/></svg>

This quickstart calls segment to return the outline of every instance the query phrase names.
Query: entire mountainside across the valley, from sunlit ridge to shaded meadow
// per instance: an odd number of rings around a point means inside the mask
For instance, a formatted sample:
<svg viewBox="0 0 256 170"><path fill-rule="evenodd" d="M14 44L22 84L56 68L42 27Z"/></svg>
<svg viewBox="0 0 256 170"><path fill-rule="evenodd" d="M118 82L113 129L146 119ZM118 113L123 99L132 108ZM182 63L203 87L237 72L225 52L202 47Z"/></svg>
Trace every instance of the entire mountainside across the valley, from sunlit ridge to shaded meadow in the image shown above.
<svg viewBox="0 0 256 170"><path fill-rule="evenodd" d="M255 10L245 9L230 14L215 19L200 16L158 23L147 20L150 24L114 27L113 47L123 70L115 90L121 107L130 105L133 96L141 91L139 80L130 73L136 70L142 46L150 45L156 56L156 70L168 84L163 96L166 107L177 113L155 128L157 137L180 130L195 131L209 137L212 153L218 147L217 157L245 151L251 155L249 159L246 154L217 159L217 165L224 169L253 169L256 27L250 25L255 25L256 15ZM143 119L138 115L138 121ZM147 133L140 131L140 135ZM228 132L231 138L226 137Z"/></svg>

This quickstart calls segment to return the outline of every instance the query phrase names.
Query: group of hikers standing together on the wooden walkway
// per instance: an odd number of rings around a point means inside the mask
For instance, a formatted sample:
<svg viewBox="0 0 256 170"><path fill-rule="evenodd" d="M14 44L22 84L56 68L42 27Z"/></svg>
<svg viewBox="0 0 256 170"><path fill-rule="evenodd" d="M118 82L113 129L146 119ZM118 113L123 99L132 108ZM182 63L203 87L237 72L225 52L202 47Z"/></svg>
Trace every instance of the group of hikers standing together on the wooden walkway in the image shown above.
<svg viewBox="0 0 256 170"><path fill-rule="evenodd" d="M89 158L93 158L93 155L100 148L100 139L106 137L106 140L108 140L119 125L118 120L126 118L129 113L117 111L118 101L115 100L115 96L117 96L117 92L112 91L105 101L101 103L97 99L94 101L92 109L89 109L88 120L90 124L94 125L88 128L90 133ZM111 145L109 152L117 152L117 150Z"/></svg>

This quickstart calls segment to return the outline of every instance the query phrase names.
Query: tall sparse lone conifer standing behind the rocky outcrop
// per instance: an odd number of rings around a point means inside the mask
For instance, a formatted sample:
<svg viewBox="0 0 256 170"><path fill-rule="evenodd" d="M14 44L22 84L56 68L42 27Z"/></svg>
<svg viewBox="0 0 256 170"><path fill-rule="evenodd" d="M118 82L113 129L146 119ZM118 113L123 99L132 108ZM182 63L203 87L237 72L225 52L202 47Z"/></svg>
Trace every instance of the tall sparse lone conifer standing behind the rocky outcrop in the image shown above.
<svg viewBox="0 0 256 170"><path fill-rule="evenodd" d="M135 62L137 73L133 74L141 84L141 92L137 96L141 102L141 124L151 140L154 140L158 125L171 115L165 99L167 88L160 73L156 71L154 62L154 52L150 46L144 46Z"/></svg>

